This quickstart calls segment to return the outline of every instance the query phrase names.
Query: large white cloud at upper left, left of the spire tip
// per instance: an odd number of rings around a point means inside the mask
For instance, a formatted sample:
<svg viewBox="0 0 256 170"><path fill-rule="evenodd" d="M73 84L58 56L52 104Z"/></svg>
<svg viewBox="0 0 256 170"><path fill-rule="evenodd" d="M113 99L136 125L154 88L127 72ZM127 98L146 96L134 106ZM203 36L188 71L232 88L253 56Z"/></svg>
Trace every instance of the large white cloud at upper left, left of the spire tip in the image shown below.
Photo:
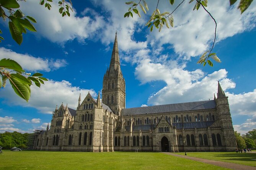
<svg viewBox="0 0 256 170"><path fill-rule="evenodd" d="M84 41L90 36L93 37L96 31L104 26L102 16L78 17L75 10L70 11L70 17L62 17L59 13L58 1L51 3L51 10L47 10L35 0L27 0L20 4L24 14L33 16L37 20L34 26L38 33L52 42L62 43L75 38Z"/></svg>

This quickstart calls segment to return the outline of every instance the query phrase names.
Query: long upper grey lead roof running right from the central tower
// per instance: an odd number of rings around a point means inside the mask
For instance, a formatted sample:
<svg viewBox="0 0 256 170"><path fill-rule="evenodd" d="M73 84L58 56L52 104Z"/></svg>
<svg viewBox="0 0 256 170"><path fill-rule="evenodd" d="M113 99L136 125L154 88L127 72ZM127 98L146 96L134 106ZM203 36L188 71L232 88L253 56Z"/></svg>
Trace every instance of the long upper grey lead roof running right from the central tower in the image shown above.
<svg viewBox="0 0 256 170"><path fill-rule="evenodd" d="M176 104L164 104L157 106L147 107L133 107L129 109L122 109L121 115L141 115L141 114L155 114L166 112L182 112L182 111L194 111L204 109L214 109L216 103L214 100L195 101L188 103L176 103Z"/></svg>

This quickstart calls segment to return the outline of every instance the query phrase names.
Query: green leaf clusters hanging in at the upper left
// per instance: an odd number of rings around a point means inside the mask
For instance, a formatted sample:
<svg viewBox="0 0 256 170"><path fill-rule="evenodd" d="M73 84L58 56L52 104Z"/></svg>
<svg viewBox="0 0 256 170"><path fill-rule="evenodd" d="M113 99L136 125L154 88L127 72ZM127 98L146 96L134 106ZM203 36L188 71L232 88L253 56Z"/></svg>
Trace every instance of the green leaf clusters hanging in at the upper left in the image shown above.
<svg viewBox="0 0 256 170"><path fill-rule="evenodd" d="M0 17L2 17L4 21L8 18L11 37L16 43L21 45L23 33L26 34L26 30L36 32L36 28L31 24L31 22L36 23L36 19L31 16L25 16L19 9L20 5L18 1L19 0L0 0ZM50 2L52 2L52 0L40 0L39 4L51 10ZM71 0L69 0L69 2L72 5ZM59 6L59 13L62 17L65 15L70 16L69 10L73 10L65 0L59 1ZM9 14L6 14L5 11L8 11ZM0 30L0 34L2 34L2 30ZM0 36L0 42L1 40L4 40L2 36ZM0 61L0 75L0 88L5 87L8 79L15 93L27 102L30 98L30 86L32 82L40 88L41 83L44 84L44 81L48 81L46 78L42 77L41 73L35 73L29 76L30 73L26 73L20 64L14 60L5 58Z"/></svg>

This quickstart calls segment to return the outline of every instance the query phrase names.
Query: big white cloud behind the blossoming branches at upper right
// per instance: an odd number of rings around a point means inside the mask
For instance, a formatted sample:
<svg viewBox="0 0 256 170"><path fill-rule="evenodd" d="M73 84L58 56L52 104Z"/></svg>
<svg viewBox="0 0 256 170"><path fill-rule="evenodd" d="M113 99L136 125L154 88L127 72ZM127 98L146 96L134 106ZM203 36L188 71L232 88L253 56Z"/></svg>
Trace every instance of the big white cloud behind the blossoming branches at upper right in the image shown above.
<svg viewBox="0 0 256 170"><path fill-rule="evenodd" d="M170 6L167 3L169 2L159 3L160 12L173 11L177 6ZM184 59L201 55L208 50L214 39L215 23L203 8L192 11L193 5L183 3L173 13L174 27L163 27L160 33L157 29L153 30L152 34L147 36L147 42L155 49L168 44ZM255 27L256 3L252 3L242 15L236 6L230 7L228 1L209 1L207 10L217 21L216 42Z"/></svg>

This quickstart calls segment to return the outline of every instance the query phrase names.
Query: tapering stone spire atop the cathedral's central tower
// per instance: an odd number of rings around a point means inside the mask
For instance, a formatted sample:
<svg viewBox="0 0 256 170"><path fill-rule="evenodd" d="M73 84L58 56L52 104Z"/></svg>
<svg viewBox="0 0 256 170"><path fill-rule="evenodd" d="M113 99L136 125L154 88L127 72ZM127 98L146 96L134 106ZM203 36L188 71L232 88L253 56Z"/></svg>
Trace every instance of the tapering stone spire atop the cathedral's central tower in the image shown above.
<svg viewBox="0 0 256 170"><path fill-rule="evenodd" d="M117 67L117 66L119 66L119 67ZM117 69L119 72L121 72L119 51L118 51L118 44L117 44L117 32L116 32L116 37L115 37L114 46L113 46L112 55L111 55L111 61L110 61L110 65L109 65L109 72L114 71L114 70L117 71Z"/></svg>

